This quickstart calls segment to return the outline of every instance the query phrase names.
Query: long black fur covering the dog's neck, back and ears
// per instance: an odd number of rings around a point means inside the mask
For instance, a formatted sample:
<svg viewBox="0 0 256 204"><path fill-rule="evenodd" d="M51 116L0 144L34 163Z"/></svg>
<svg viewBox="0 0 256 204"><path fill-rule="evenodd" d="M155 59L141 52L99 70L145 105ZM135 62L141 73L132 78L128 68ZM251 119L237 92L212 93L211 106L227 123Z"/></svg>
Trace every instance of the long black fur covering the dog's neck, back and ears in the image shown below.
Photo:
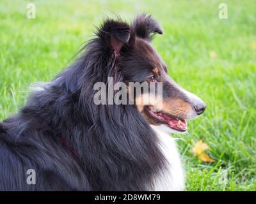
<svg viewBox="0 0 256 204"><path fill-rule="evenodd" d="M141 18L134 25L106 20L74 64L0 123L0 191L143 191L152 185L164 159L148 122L135 105L93 103L93 84L108 77L129 81L136 73L122 66L136 35L163 33L151 17ZM36 171L36 185L26 183L28 169Z"/></svg>

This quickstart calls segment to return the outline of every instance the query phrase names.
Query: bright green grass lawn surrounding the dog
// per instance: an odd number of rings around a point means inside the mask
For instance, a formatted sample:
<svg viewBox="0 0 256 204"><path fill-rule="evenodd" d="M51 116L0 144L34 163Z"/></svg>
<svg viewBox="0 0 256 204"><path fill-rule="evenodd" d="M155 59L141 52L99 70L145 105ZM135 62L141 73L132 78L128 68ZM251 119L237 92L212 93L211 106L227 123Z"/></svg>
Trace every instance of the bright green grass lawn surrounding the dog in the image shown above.
<svg viewBox="0 0 256 204"><path fill-rule="evenodd" d="M189 122L189 133L175 135L181 139L186 190L256 190L255 1L225 0L225 20L218 18L223 1L32 1L31 20L29 2L0 3L1 120L19 110L31 82L49 81L65 68L102 18L115 11L132 20L145 11L163 25L164 36L153 44L170 76L207 103L204 115ZM200 139L215 163L194 156Z"/></svg>

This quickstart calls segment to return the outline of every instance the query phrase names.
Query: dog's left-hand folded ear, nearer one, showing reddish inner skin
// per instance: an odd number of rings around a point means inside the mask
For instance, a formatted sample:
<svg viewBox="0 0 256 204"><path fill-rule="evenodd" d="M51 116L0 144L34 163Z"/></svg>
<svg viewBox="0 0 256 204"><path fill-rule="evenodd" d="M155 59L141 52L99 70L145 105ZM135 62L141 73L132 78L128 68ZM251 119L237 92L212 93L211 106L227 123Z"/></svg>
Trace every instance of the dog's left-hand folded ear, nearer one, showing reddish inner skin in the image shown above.
<svg viewBox="0 0 256 204"><path fill-rule="evenodd" d="M130 39L131 29L122 21L106 20L98 29L97 35L107 43L113 54L119 54L124 43Z"/></svg>

